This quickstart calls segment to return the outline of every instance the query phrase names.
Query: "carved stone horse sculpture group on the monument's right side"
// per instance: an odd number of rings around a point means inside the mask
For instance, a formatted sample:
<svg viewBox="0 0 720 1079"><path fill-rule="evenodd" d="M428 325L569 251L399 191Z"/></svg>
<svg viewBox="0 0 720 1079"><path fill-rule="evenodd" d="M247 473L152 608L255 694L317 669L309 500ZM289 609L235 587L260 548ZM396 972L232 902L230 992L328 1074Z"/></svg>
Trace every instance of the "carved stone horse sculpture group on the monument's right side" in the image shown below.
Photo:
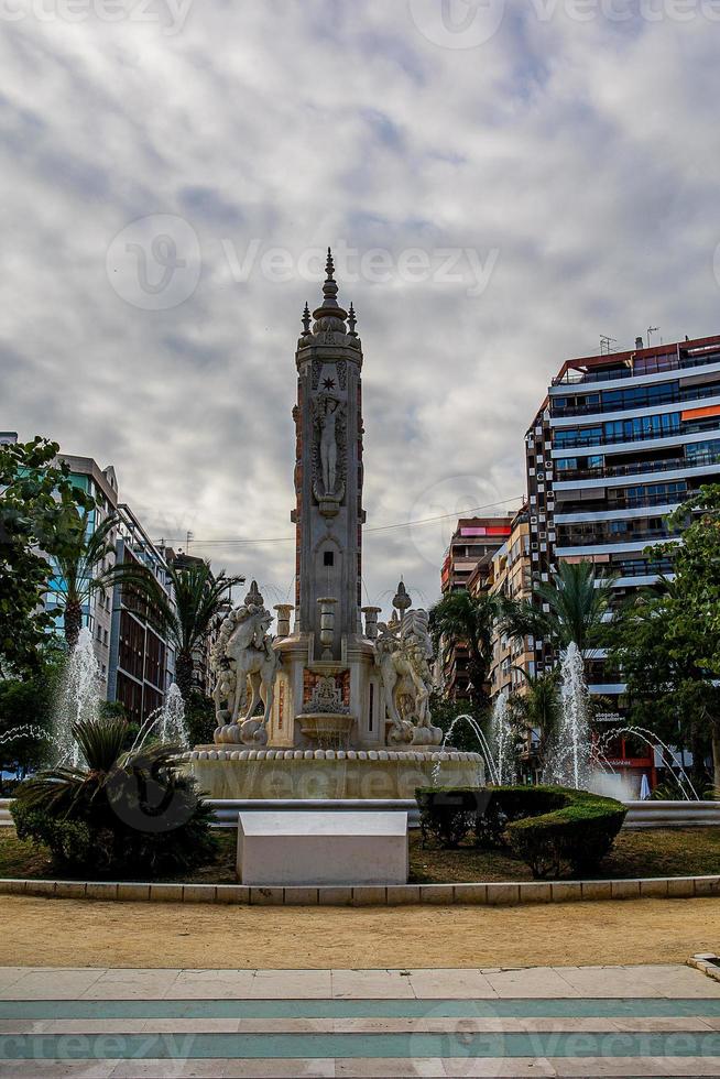
<svg viewBox="0 0 720 1079"><path fill-rule="evenodd" d="M375 663L392 723L389 744L439 745L443 740L443 731L433 727L429 715L433 644L427 624L423 610L408 610L402 620L378 624Z"/></svg>

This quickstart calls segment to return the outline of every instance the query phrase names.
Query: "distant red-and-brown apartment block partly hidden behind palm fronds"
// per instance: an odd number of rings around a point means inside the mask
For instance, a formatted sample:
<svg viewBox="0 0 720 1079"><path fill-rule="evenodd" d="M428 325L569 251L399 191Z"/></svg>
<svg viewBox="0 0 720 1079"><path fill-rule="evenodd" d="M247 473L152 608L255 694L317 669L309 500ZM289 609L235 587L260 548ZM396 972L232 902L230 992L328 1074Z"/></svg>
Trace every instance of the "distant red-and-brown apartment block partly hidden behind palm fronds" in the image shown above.
<svg viewBox="0 0 720 1079"><path fill-rule="evenodd" d="M511 516L460 517L445 555L441 571L443 595L484 587L491 571L492 556L510 537ZM468 652L456 645L441 671L445 693L461 698L468 694Z"/></svg>

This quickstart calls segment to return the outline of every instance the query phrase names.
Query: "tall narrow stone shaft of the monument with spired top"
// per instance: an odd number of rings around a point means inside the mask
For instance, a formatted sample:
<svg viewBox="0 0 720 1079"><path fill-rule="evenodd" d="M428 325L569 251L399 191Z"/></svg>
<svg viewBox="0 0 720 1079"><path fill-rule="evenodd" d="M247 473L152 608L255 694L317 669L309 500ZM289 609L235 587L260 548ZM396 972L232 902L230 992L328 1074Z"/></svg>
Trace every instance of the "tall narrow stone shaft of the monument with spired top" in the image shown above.
<svg viewBox="0 0 720 1079"><path fill-rule="evenodd" d="M315 654L338 660L342 637L362 632L362 348L356 317L338 304L328 248L323 302L305 305L297 342L295 494L296 631ZM325 633L320 641L320 629ZM331 643L330 643L331 635Z"/></svg>

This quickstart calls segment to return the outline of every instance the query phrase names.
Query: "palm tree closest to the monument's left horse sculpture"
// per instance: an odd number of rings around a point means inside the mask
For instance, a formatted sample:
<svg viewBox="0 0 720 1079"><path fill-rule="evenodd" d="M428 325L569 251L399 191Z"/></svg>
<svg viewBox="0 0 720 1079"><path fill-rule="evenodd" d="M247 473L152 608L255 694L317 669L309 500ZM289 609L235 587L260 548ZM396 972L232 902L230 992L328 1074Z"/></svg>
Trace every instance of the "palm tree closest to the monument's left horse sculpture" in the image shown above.
<svg viewBox="0 0 720 1079"><path fill-rule="evenodd" d="M175 682L188 702L193 689L193 653L204 643L214 619L225 608L232 588L244 577L217 577L210 563L193 560L168 567L168 584L174 599L157 587L155 609L164 631L175 649Z"/></svg>

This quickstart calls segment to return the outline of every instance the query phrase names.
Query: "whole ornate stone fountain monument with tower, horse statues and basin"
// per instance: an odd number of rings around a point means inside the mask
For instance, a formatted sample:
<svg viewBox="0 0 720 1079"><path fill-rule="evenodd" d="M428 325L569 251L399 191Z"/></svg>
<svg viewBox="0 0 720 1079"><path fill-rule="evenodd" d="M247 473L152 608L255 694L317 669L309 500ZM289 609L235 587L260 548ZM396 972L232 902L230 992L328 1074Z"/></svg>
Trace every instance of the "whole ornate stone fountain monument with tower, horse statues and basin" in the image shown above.
<svg viewBox="0 0 720 1079"><path fill-rule="evenodd" d="M188 758L214 797L408 797L440 765L449 785L481 767L439 749L427 612L402 581L389 621L361 607L362 348L329 249L326 271L295 353L295 603L275 607L273 635L253 581L222 621L215 742Z"/></svg>

